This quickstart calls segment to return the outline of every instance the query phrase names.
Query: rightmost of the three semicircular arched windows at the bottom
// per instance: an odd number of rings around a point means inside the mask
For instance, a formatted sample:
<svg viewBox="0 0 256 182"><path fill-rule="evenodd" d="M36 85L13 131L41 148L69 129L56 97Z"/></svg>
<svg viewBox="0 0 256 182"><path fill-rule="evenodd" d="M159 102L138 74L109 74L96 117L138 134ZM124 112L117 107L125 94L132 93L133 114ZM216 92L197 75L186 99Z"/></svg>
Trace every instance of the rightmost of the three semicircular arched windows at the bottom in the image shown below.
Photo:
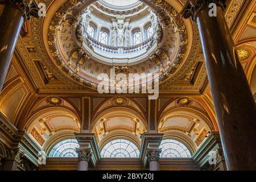
<svg viewBox="0 0 256 182"><path fill-rule="evenodd" d="M188 148L177 140L162 140L159 148L162 148L160 158L191 158Z"/></svg>

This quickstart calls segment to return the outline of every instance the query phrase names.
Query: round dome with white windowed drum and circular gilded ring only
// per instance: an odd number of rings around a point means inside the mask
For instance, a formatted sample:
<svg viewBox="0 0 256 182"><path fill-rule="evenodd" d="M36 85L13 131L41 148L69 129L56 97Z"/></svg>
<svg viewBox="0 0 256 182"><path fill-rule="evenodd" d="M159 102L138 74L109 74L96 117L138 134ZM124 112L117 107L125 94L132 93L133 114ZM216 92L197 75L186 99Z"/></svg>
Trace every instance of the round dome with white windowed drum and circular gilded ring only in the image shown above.
<svg viewBox="0 0 256 182"><path fill-rule="evenodd" d="M164 82L175 76L187 50L184 22L172 12L170 19L158 6L135 0L80 3L56 17L48 44L59 68L93 89L102 82L99 76L111 77L113 70L133 73L141 87L150 74Z"/></svg>

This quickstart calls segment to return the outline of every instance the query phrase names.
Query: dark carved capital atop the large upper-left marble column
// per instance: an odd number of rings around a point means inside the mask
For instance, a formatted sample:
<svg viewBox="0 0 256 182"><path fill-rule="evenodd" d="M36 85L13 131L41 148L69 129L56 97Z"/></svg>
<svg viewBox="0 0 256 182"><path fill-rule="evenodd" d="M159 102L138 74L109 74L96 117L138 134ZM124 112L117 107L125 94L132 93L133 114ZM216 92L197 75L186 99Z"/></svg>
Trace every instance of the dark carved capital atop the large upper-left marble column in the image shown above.
<svg viewBox="0 0 256 182"><path fill-rule="evenodd" d="M10 3L22 11L24 19L30 19L31 16L38 18L38 5L33 0L0 0L0 3Z"/></svg>

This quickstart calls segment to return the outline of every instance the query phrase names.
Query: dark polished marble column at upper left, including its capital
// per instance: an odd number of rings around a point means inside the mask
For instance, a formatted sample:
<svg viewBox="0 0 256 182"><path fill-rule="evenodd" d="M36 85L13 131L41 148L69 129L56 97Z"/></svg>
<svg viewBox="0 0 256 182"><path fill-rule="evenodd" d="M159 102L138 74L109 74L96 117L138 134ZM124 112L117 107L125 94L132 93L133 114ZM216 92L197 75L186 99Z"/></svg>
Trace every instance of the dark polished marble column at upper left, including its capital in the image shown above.
<svg viewBox="0 0 256 182"><path fill-rule="evenodd" d="M36 15L35 4L31 1L0 1L0 91L13 57L23 23L30 15Z"/></svg>

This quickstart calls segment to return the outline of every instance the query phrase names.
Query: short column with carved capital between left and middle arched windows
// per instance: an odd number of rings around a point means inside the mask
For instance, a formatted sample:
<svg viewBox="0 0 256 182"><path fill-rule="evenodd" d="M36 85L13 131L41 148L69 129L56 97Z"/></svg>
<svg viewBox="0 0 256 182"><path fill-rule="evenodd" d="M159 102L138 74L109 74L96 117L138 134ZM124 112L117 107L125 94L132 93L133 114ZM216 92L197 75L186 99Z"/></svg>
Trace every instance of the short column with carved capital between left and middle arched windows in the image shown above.
<svg viewBox="0 0 256 182"><path fill-rule="evenodd" d="M77 170L88 171L88 163L92 157L92 151L90 148L77 148L76 152L79 156L79 164Z"/></svg>

